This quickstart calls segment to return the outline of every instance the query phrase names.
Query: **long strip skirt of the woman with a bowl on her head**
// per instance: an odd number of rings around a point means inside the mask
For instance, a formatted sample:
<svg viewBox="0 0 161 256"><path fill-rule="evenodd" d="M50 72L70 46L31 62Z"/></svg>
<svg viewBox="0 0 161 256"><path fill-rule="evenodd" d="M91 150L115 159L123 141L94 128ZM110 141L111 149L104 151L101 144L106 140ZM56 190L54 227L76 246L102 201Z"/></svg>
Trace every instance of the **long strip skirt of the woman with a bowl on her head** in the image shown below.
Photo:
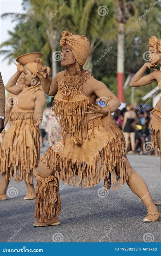
<svg viewBox="0 0 161 256"><path fill-rule="evenodd" d="M12 121L5 132L1 149L1 175L14 181L33 183L33 167L40 157L39 128L30 119Z"/></svg>

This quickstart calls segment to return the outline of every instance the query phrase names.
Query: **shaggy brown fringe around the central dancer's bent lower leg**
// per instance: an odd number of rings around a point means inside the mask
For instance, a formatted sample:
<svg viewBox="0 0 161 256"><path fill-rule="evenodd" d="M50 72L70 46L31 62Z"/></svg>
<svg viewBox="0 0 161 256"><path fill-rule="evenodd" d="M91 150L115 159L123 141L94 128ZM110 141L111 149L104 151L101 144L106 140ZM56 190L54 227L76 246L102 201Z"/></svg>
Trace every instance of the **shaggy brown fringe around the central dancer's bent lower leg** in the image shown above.
<svg viewBox="0 0 161 256"><path fill-rule="evenodd" d="M42 178L35 175L36 201L35 201L35 219L38 222L46 222L53 218L54 214L60 214L60 196L58 178L50 175Z"/></svg>

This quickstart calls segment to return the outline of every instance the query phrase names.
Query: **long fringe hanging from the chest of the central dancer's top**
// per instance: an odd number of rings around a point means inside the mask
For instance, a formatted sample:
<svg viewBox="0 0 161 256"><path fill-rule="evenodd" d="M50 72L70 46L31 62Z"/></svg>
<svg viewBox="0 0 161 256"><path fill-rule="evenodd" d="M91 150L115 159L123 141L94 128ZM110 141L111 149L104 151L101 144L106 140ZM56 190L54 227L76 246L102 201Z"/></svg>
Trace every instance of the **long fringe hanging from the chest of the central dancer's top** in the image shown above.
<svg viewBox="0 0 161 256"><path fill-rule="evenodd" d="M73 102L54 99L54 115L61 126L61 136L63 138L65 133L68 133L75 144L82 144L82 128L87 134L88 120L85 112L88 105L89 99ZM83 127L81 125L82 120Z"/></svg>

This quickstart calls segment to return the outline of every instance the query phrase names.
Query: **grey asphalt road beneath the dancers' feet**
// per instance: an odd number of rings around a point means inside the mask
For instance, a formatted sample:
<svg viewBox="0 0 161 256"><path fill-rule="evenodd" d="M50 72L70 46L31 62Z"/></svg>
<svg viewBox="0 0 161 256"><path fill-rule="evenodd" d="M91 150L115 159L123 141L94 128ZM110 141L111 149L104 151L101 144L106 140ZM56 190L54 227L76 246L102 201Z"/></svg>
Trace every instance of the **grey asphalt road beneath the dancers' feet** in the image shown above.
<svg viewBox="0 0 161 256"><path fill-rule="evenodd" d="M46 150L43 148L41 154ZM143 177L153 200L160 198L159 157L129 155L132 167ZM36 181L34 179L34 183ZM8 189L16 195L0 201L1 242L159 242L160 224L143 223L146 208L127 184L98 196L100 183L93 188L61 186L59 226L34 228L35 200L24 201L25 183L11 181ZM99 191L100 191L99 190ZM9 191L9 190L8 190ZM102 195L101 195L102 196ZM160 207L158 207L160 209ZM161 210L161 209L160 209Z"/></svg>

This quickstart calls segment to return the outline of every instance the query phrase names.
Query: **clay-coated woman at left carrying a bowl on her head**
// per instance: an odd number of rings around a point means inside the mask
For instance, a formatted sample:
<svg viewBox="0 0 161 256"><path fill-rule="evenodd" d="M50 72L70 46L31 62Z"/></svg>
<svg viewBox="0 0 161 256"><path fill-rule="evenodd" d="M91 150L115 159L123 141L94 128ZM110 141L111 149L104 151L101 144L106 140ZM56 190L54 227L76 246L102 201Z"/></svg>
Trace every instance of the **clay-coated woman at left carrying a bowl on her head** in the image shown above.
<svg viewBox="0 0 161 256"><path fill-rule="evenodd" d="M14 181L24 180L28 193L24 200L35 199L33 174L40 157L39 126L46 97L37 76L36 53L20 56L17 72L6 85L7 91L16 94L17 102L10 112L11 125L5 132L1 146L0 200L6 200L6 190L12 176ZM25 67L22 65L24 64ZM21 73L24 89L16 84ZM35 172L35 173L34 173Z"/></svg>

